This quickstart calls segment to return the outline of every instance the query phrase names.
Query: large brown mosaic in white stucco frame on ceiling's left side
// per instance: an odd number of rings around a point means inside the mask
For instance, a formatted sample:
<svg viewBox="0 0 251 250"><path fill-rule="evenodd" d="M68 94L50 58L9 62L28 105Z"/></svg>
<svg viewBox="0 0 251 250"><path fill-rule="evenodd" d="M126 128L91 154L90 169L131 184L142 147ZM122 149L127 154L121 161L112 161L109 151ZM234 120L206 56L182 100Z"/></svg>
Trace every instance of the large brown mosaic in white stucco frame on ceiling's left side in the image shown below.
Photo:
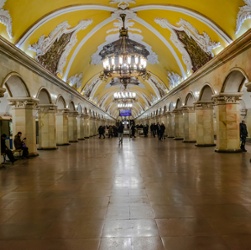
<svg viewBox="0 0 251 250"><path fill-rule="evenodd" d="M63 22L48 37L41 36L29 49L36 52L35 59L51 73L62 75L67 56L77 43L77 32L91 23L92 20L83 20L74 28L70 28L68 22Z"/></svg>

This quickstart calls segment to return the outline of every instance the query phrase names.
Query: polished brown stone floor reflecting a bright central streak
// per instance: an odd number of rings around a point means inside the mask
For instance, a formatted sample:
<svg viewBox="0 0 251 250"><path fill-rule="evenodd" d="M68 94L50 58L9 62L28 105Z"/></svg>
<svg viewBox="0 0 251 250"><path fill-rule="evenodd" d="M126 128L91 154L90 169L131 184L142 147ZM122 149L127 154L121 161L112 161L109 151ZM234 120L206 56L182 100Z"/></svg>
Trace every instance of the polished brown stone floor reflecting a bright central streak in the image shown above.
<svg viewBox="0 0 251 250"><path fill-rule="evenodd" d="M0 250L251 249L247 153L90 138L0 170Z"/></svg>

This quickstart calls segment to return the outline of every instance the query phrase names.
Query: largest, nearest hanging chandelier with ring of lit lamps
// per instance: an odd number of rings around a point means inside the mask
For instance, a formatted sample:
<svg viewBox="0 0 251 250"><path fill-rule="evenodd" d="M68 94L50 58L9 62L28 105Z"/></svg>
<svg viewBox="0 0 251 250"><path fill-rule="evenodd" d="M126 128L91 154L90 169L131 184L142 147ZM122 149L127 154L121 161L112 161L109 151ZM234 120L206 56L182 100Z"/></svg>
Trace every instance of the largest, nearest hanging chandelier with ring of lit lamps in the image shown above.
<svg viewBox="0 0 251 250"><path fill-rule="evenodd" d="M146 75L149 52L144 45L129 39L128 29L125 28L126 14L120 17L123 27L119 30L119 40L104 46L99 55L103 61L104 76L117 77L126 85L124 79Z"/></svg>

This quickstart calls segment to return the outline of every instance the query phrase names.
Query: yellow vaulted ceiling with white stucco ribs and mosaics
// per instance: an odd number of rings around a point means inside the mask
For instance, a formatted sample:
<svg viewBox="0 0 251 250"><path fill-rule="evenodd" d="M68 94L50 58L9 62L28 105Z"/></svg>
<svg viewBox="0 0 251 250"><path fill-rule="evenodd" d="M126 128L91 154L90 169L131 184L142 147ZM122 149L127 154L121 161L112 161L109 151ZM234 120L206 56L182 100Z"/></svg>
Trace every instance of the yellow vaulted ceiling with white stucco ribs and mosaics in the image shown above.
<svg viewBox="0 0 251 250"><path fill-rule="evenodd" d="M251 0L0 0L0 34L113 117L113 79L101 79L103 46L119 38L143 44L149 78L137 93L136 117L215 57L251 26Z"/></svg>

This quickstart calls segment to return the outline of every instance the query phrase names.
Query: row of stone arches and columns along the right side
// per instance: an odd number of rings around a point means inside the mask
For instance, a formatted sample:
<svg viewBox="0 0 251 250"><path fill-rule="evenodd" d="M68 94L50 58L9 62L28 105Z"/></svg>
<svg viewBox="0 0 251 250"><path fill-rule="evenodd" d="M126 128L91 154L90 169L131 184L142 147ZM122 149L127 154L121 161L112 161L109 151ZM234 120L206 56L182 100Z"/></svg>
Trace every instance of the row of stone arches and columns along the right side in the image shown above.
<svg viewBox="0 0 251 250"><path fill-rule="evenodd" d="M248 82L242 70L232 70L221 87L218 83L206 83L200 91L186 95L180 92L141 122L163 122L170 138L197 146L216 146L217 152L241 152L240 121L246 120L248 130L251 128L251 100L245 87Z"/></svg>

